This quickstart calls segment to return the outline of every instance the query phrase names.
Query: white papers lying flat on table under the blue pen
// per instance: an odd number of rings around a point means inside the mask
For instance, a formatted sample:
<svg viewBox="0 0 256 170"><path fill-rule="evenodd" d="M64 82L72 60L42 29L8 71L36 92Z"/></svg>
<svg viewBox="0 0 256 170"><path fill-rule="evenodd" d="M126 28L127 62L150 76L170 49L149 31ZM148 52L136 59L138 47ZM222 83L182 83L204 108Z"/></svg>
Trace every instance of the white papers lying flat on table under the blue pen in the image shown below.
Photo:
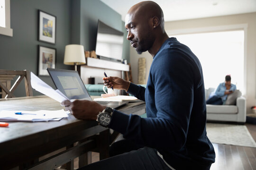
<svg viewBox="0 0 256 170"><path fill-rule="evenodd" d="M58 121L68 117L70 111L65 110L1 110L0 121Z"/></svg>

